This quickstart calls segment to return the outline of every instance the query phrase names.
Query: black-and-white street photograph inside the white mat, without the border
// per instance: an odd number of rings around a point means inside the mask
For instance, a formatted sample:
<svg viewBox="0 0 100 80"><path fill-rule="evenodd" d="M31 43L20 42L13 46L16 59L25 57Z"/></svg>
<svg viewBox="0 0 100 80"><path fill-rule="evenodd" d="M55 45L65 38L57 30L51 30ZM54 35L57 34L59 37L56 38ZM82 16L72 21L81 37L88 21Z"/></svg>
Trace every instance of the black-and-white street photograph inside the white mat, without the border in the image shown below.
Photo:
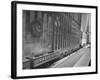
<svg viewBox="0 0 100 80"><path fill-rule="evenodd" d="M91 14L23 10L23 69L91 66Z"/></svg>

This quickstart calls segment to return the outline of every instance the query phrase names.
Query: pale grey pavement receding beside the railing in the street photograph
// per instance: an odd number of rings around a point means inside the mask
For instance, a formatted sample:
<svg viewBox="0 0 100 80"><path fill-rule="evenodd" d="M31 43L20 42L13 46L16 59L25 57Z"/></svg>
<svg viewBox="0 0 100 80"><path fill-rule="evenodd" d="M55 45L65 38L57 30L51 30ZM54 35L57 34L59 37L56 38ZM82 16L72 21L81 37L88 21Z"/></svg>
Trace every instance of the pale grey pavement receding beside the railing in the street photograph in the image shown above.
<svg viewBox="0 0 100 80"><path fill-rule="evenodd" d="M88 66L90 62L90 47L85 46L80 50L72 53L70 56L67 56L57 62L55 62L51 68L61 68L61 67L80 67Z"/></svg>

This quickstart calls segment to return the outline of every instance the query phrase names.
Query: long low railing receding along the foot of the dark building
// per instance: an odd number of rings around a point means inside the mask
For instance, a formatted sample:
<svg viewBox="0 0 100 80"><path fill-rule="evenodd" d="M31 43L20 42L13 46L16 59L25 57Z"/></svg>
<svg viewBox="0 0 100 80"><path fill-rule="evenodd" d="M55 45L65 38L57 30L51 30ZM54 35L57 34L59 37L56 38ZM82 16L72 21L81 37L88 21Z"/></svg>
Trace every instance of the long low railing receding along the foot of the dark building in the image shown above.
<svg viewBox="0 0 100 80"><path fill-rule="evenodd" d="M39 57L26 57L27 59L29 59L29 65L30 65L30 69L34 69L44 63L50 62L52 60L55 60L57 58L63 58L65 56L68 56L70 54L72 54L73 52L79 50L81 47L76 48L76 49L72 49L69 51L66 50L58 50L58 51L54 51L51 53L45 53Z"/></svg>

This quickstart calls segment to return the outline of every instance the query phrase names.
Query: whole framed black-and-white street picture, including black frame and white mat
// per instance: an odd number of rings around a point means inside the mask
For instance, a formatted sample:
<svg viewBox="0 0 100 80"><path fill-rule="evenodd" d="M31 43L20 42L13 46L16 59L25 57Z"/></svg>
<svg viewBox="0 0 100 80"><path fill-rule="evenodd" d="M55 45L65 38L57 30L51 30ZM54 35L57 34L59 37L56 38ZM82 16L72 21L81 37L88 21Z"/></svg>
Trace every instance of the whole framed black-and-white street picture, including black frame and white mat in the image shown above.
<svg viewBox="0 0 100 80"><path fill-rule="evenodd" d="M96 6L12 6L13 78L97 72Z"/></svg>

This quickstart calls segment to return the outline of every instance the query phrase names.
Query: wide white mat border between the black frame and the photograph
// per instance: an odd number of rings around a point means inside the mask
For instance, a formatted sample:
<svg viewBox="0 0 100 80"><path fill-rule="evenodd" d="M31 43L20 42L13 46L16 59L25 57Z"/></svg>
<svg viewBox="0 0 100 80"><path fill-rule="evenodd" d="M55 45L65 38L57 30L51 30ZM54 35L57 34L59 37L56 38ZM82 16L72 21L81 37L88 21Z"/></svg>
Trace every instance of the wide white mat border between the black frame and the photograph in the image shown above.
<svg viewBox="0 0 100 80"><path fill-rule="evenodd" d="M22 69L22 10L59 11L91 13L91 67L51 68L51 69ZM17 76L38 76L53 74L84 73L96 71L96 9L78 7L60 7L47 5L17 4ZM67 72L67 73L66 73Z"/></svg>

